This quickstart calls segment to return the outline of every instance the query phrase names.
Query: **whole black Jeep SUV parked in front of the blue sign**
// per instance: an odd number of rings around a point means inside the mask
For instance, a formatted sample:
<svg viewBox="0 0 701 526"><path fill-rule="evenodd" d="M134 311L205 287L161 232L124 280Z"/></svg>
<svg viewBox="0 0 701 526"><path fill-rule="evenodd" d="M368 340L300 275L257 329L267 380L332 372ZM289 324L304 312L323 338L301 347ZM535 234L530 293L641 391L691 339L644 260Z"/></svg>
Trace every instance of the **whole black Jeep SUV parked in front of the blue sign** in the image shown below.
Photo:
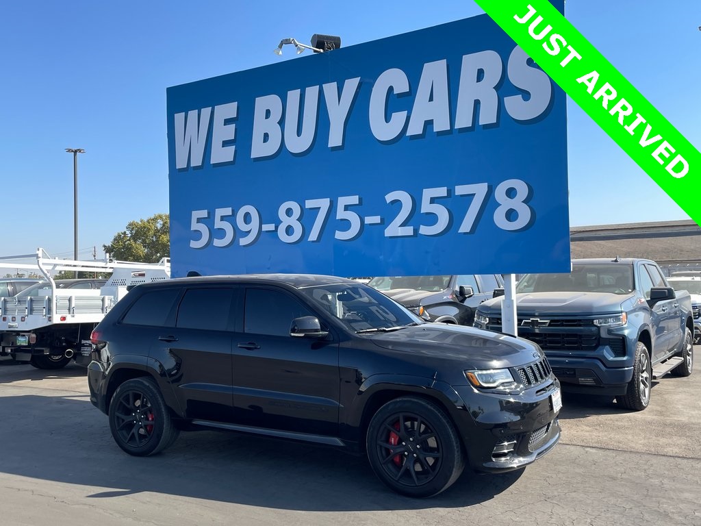
<svg viewBox="0 0 701 526"><path fill-rule="evenodd" d="M90 399L133 455L218 428L367 453L412 497L469 464L510 471L557 443L559 384L536 344L423 323L331 276L139 285L97 325Z"/></svg>

